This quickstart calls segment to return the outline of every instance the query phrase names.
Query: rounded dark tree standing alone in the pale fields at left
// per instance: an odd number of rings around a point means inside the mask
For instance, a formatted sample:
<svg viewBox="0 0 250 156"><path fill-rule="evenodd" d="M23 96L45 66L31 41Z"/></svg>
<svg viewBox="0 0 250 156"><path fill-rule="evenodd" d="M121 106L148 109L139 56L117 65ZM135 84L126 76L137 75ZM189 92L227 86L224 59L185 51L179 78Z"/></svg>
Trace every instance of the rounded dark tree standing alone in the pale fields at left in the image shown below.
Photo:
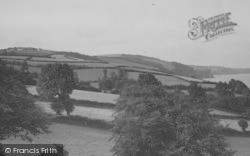
<svg viewBox="0 0 250 156"><path fill-rule="evenodd" d="M74 86L74 73L68 64L48 64L42 68L37 91L42 97L53 99L52 109L57 114L65 110L70 115L74 105L70 103L69 95Z"/></svg>

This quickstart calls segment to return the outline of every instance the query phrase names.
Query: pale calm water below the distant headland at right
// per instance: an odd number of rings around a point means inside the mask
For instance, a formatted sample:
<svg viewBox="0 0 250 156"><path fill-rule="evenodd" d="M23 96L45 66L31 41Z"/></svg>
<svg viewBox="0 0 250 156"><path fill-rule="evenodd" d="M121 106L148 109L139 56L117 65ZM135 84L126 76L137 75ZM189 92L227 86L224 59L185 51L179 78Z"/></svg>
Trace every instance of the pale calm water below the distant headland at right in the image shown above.
<svg viewBox="0 0 250 156"><path fill-rule="evenodd" d="M250 74L237 74L237 75L214 75L214 78L206 79L214 82L228 82L231 79L240 80L250 88Z"/></svg>

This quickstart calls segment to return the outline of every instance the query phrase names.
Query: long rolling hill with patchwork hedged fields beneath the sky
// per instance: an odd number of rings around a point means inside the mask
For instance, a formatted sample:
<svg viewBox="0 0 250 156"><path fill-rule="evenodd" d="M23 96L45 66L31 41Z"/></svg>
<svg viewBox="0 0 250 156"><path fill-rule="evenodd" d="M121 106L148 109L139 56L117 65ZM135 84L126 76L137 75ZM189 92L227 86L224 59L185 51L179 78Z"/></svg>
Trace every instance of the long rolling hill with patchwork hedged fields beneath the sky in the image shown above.
<svg viewBox="0 0 250 156"><path fill-rule="evenodd" d="M121 69L125 70L129 79L137 79L140 73L152 73L163 84L185 85L191 82L203 84L201 78L212 77L209 70L195 70L194 68L177 63L163 61L157 58L112 54L105 56L89 56L76 52L52 51L32 47L14 47L0 50L0 59L8 65L20 69L23 62L27 62L30 72L41 71L41 67L49 63L67 63L77 74L79 81L88 81L93 87L98 88L98 81L107 75L119 75ZM205 82L205 87L211 84Z"/></svg>

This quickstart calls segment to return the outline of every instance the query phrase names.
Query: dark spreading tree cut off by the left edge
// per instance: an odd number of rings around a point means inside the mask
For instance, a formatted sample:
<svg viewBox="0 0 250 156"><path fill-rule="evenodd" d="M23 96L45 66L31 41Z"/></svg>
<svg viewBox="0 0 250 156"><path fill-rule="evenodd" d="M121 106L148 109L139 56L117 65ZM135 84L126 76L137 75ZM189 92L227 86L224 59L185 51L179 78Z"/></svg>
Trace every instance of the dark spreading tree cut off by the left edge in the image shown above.
<svg viewBox="0 0 250 156"><path fill-rule="evenodd" d="M0 60L0 140L15 136L31 141L30 135L48 132L48 120L17 74Z"/></svg>

